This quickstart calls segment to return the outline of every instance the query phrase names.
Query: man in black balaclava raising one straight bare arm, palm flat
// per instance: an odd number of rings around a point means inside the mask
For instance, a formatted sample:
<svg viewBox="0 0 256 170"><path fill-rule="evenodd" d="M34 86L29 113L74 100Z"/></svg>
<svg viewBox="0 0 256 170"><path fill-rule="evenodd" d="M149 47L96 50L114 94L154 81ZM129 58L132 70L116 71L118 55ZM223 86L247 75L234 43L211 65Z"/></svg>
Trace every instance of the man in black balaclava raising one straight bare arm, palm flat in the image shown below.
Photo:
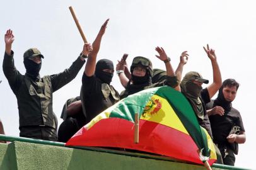
<svg viewBox="0 0 256 170"><path fill-rule="evenodd" d="M119 93L110 85L114 72L113 62L108 59L101 59L96 62L107 23L108 20L103 23L93 42L93 51L88 55L88 62L82 77L80 96L86 123L119 101Z"/></svg>

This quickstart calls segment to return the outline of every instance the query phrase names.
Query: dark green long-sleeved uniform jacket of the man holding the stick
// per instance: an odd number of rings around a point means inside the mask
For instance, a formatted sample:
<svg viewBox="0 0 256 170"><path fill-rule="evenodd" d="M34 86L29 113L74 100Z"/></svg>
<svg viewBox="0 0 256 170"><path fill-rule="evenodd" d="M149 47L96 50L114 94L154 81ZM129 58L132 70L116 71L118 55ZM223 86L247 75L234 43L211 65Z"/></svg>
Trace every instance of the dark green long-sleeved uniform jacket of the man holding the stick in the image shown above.
<svg viewBox="0 0 256 170"><path fill-rule="evenodd" d="M72 81L83 67L84 61L78 57L64 72L35 81L17 71L13 54L13 51L11 55L4 54L3 71L17 98L20 127L40 125L56 128L52 93Z"/></svg>

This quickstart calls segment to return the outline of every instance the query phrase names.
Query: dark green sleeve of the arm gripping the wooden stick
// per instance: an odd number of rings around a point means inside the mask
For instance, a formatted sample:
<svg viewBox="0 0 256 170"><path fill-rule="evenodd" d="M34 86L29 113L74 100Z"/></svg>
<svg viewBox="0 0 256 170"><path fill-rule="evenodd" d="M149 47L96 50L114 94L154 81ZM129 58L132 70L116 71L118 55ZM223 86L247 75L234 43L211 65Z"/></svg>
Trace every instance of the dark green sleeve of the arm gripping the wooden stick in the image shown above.
<svg viewBox="0 0 256 170"><path fill-rule="evenodd" d="M59 74L54 74L50 76L50 81L52 83L53 92L65 86L67 83L71 82L78 72L83 67L85 61L82 61L80 57L76 59L69 69L65 69L64 72Z"/></svg>

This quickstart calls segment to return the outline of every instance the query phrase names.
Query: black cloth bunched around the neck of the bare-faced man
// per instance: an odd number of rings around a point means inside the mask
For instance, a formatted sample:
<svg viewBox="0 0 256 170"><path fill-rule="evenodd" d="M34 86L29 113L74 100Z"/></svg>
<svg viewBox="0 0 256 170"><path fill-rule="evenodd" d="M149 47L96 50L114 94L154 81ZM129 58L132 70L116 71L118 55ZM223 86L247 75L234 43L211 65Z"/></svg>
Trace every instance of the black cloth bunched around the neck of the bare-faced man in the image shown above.
<svg viewBox="0 0 256 170"><path fill-rule="evenodd" d="M225 110L224 113L228 113L231 110L231 107L232 107L231 102L232 101L226 101L226 99L224 98L223 85L222 85L221 88L219 88L218 97L214 100L213 107L221 106Z"/></svg>

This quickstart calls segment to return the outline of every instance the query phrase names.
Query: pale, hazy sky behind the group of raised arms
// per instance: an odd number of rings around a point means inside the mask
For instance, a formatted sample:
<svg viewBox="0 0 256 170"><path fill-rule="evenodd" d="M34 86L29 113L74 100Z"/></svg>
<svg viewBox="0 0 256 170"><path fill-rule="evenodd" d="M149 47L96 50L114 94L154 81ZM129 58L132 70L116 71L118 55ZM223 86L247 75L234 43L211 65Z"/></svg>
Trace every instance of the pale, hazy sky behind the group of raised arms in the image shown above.
<svg viewBox="0 0 256 170"><path fill-rule="evenodd" d="M233 107L241 113L247 141L240 144L235 165L256 169L253 162L256 116L252 109L255 105L252 86L256 84L253 79L256 71L255 5L255 1L237 0L3 0L0 2L0 54L4 56L4 34L11 28L15 35L12 48L15 65L21 74L25 74L23 53L32 47L37 47L45 56L41 76L64 71L83 49L83 40L69 6L73 6L88 42L93 42L100 26L110 18L98 59L110 59L114 65L127 53L129 65L133 57L140 55L151 59L154 68L163 69L163 62L154 56L157 54L154 48L160 46L176 68L180 54L187 50L190 56L183 75L198 71L211 83L211 62L202 48L209 43L218 57L223 80L233 78L240 82ZM0 65L3 65L3 57ZM53 108L59 124L66 100L79 95L83 69L72 82L54 93ZM0 69L0 81L0 118L6 134L18 136L16 97L9 88L3 69ZM119 92L123 90L116 74L112 85Z"/></svg>

